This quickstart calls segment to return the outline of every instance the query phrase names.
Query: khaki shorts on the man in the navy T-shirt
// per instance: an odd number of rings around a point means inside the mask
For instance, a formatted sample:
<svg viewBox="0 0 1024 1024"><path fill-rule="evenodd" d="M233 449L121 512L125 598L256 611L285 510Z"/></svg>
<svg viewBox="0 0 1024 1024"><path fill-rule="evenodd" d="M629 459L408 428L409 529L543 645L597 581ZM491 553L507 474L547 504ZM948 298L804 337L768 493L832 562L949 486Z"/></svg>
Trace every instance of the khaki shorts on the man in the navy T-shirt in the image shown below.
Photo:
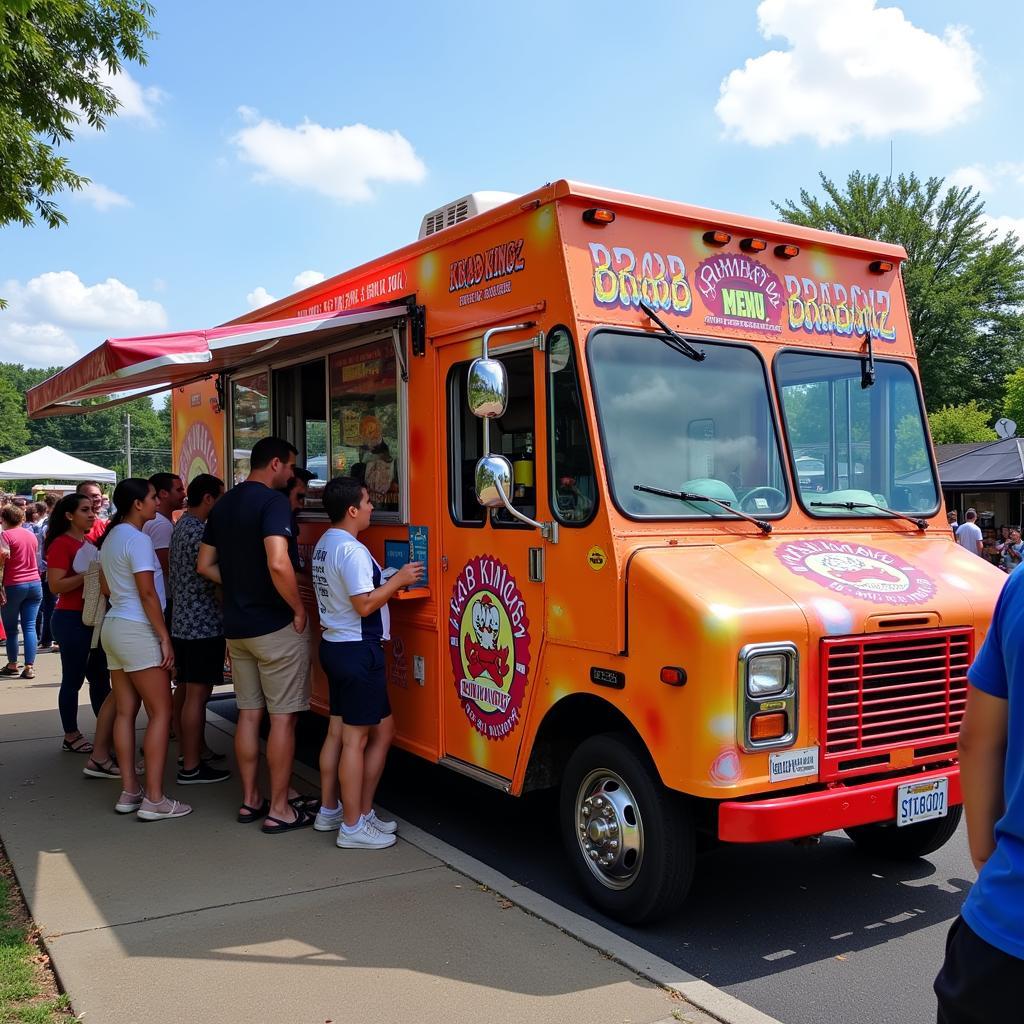
<svg viewBox="0 0 1024 1024"><path fill-rule="evenodd" d="M289 623L276 633L228 640L234 702L240 711L266 708L271 715L309 710L309 627Z"/></svg>

